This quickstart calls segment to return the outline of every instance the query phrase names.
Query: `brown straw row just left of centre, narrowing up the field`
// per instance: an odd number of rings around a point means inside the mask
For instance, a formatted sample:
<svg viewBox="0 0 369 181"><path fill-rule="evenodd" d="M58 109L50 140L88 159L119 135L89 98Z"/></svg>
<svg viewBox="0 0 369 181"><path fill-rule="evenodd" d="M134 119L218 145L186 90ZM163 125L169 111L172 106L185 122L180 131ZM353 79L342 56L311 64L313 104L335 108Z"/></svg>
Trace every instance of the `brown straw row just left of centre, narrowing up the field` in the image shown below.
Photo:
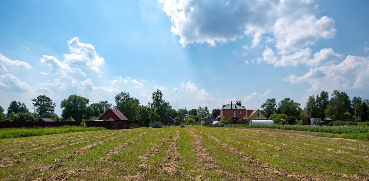
<svg viewBox="0 0 369 181"><path fill-rule="evenodd" d="M161 165L163 170L165 170L167 173L171 174L182 174L183 170L177 165L177 161L180 160L179 152L178 152L178 146L177 142L180 138L180 132L176 130L177 133L172 141L172 143L169 145L168 149L168 155L164 160L164 163Z"/></svg>

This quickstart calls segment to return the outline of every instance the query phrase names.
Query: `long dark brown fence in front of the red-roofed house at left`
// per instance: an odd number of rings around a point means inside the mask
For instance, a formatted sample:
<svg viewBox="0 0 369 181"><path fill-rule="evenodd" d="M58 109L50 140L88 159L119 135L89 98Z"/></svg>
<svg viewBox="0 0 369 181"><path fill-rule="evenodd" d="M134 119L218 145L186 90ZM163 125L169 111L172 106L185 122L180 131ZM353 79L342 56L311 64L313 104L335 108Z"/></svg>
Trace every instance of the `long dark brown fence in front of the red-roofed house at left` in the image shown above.
<svg viewBox="0 0 369 181"><path fill-rule="evenodd" d="M115 124L114 124L115 123ZM119 125L117 123L125 123L120 124L120 127L113 127L115 125ZM76 121L65 121L65 122L0 122L0 128L17 128L17 127L57 127L57 126L80 126L81 122ZM107 129L128 129L135 128L137 124L134 122L120 122L120 121L86 121L87 127L104 127ZM123 126L124 125L124 126ZM132 125L132 126L131 126Z"/></svg>

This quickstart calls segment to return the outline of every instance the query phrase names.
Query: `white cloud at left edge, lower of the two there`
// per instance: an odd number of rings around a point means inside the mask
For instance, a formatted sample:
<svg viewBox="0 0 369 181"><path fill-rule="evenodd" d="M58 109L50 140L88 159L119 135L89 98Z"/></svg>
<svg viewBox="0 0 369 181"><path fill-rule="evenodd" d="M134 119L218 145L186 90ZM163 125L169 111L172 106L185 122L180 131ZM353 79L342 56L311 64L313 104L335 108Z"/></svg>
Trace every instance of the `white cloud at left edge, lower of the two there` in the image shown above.
<svg viewBox="0 0 369 181"><path fill-rule="evenodd" d="M0 75L0 88L6 91L32 91L30 85L8 73Z"/></svg>

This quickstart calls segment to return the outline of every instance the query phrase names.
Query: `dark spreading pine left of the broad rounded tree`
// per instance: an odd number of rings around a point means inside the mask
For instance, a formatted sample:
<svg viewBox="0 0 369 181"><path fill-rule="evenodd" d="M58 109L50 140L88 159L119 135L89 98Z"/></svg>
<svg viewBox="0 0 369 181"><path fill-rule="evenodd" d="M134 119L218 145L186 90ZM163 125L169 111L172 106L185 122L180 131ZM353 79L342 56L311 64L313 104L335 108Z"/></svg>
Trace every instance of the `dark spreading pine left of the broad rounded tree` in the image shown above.
<svg viewBox="0 0 369 181"><path fill-rule="evenodd" d="M52 102L52 99L47 97L46 95L39 95L36 98L32 99L35 113L38 116L54 113L55 111L55 103Z"/></svg>

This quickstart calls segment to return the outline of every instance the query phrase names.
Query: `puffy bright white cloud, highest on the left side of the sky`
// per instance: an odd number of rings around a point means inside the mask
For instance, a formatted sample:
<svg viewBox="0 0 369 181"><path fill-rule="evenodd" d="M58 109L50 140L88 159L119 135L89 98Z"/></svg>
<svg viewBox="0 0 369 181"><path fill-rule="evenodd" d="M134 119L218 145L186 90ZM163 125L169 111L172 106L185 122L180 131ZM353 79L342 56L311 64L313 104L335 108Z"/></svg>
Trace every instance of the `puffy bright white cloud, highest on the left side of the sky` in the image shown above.
<svg viewBox="0 0 369 181"><path fill-rule="evenodd" d="M78 37L74 37L68 41L68 47L71 54L63 54L66 63L87 67L97 73L102 73L100 66L104 64L104 58L99 57L92 44L81 43Z"/></svg>

